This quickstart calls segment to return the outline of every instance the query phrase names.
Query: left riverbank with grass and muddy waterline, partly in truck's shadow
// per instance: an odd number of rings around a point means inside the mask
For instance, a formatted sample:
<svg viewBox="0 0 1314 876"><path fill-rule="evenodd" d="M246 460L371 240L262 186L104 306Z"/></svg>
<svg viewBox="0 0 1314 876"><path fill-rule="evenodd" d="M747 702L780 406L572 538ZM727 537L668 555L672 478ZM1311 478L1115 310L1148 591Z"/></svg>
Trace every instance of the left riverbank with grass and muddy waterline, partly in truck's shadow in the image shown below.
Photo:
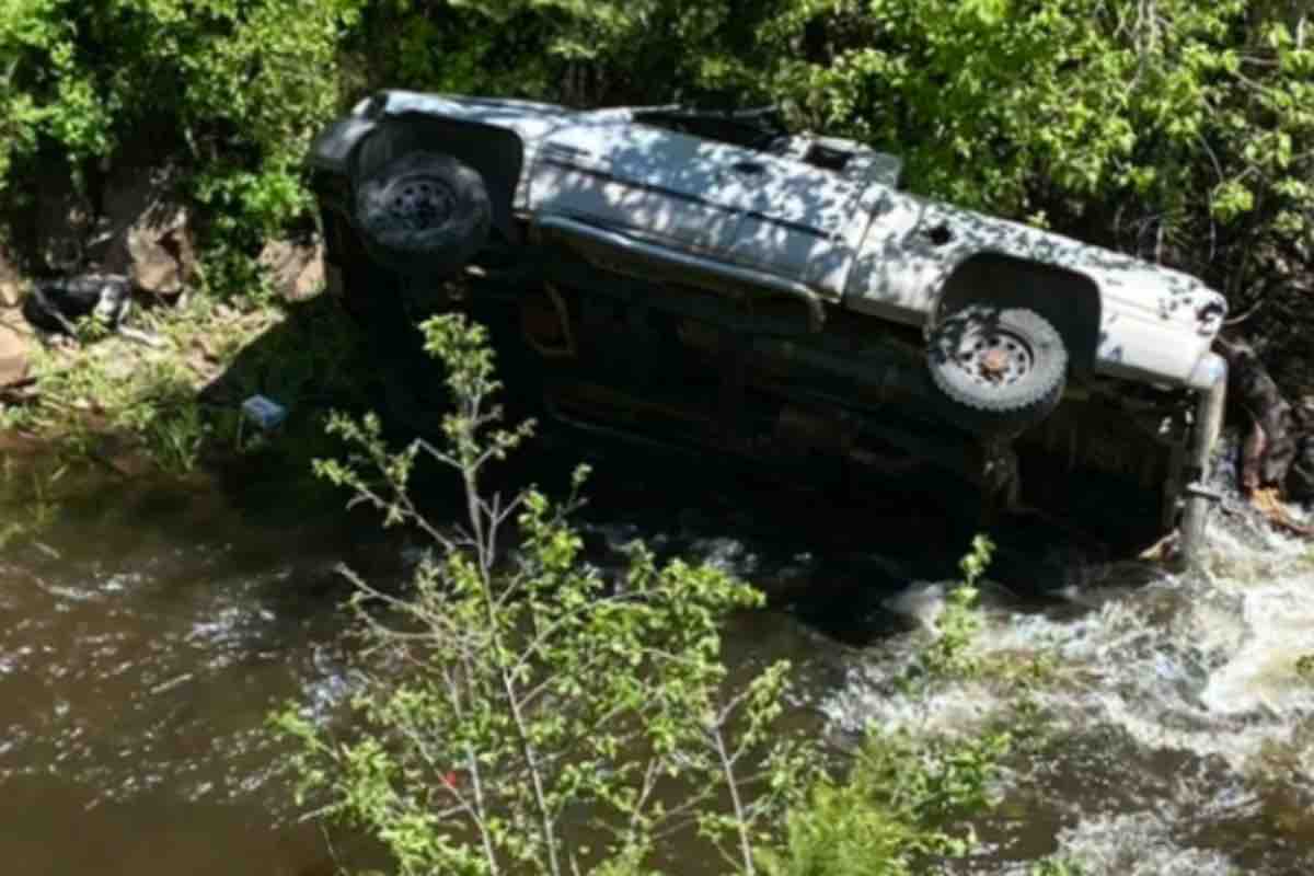
<svg viewBox="0 0 1314 876"><path fill-rule="evenodd" d="M22 317L0 314L0 324L13 319ZM185 294L134 309L125 326L29 335L25 378L0 394L0 544L37 537L88 483L205 493L251 479L301 491L307 507L332 493L310 466L338 450L325 414L368 407L374 373L335 302ZM242 415L256 394L286 410L277 428Z"/></svg>

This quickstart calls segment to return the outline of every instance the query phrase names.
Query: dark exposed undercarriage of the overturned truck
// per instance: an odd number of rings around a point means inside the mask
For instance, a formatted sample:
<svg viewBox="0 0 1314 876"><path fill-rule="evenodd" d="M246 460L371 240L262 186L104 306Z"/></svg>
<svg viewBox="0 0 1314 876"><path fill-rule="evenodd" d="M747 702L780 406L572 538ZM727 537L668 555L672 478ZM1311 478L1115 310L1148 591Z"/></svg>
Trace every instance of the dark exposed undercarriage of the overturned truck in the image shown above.
<svg viewBox="0 0 1314 876"><path fill-rule="evenodd" d="M541 255L532 265L486 256L456 280L360 259L339 282L348 309L371 309L385 355L411 357L396 372L410 381L438 385L414 359L414 324L463 309L489 326L509 389L562 424L846 490L949 471L962 483L950 500L979 503L982 525L1035 512L1099 538L1106 499L1120 516L1109 529L1143 533L1144 546L1176 525L1198 477L1189 393L1097 378L1071 385L1020 435L974 435L946 422L915 328L872 332L869 319L829 307L820 331L796 299L658 285L565 251ZM392 332L378 331L385 322Z"/></svg>

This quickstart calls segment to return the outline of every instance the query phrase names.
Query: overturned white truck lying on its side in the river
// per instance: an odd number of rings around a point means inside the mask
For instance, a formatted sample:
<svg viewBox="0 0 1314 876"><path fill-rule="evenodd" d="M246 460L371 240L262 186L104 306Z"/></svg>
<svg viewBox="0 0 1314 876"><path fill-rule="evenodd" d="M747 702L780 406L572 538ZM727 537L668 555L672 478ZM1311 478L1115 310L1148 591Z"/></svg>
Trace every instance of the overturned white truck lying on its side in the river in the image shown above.
<svg viewBox="0 0 1314 876"><path fill-rule="evenodd" d="M381 349L482 310L562 422L763 464L930 462L1004 506L1034 449L1151 491L1200 548L1226 302L1190 276L901 192L896 156L771 109L389 91L309 162L330 288Z"/></svg>

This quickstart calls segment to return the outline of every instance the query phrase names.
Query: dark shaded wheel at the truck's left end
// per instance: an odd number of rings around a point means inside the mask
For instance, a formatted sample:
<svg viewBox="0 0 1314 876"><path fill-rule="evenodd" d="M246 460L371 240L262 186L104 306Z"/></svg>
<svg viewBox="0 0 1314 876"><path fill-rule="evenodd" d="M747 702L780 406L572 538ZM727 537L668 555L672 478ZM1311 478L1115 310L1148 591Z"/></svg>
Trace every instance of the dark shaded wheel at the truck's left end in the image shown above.
<svg viewBox="0 0 1314 876"><path fill-rule="evenodd" d="M407 152L356 185L356 227L369 257L390 271L455 273L487 240L484 177L451 155Z"/></svg>

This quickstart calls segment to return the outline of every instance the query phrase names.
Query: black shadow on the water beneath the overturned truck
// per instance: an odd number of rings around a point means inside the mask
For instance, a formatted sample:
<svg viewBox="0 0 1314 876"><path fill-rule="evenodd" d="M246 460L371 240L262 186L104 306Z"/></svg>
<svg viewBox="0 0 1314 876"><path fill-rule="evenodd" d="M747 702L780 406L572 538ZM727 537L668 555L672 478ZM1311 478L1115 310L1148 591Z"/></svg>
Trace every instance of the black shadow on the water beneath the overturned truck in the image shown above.
<svg viewBox="0 0 1314 876"><path fill-rule="evenodd" d="M328 408L405 410L385 419L398 445L415 428L436 428L435 411L445 403L438 366L414 351L363 341L350 328L342 335L342 323L327 296L293 306L286 322L242 351L202 394L235 408L247 395L263 393L289 408L288 423L267 450L227 460L215 471L222 493L252 520L272 524L283 516L307 525L339 512L342 493L309 475L311 457L342 453L342 445L323 435ZM505 331L494 324L494 338ZM311 369L300 364L311 336L335 332L342 335L336 361ZM410 341L414 347L415 338ZM983 531L976 487L936 469L858 482L827 462L786 470L557 424L535 397L535 362L519 353L515 344L498 347L509 418L533 416L539 428L527 448L494 471L491 489L535 483L549 495L564 495L570 471L587 462L594 474L579 523L599 562L629 537L643 537L658 554L717 561L820 632L863 644L905 626L882 607L891 591L909 580L954 578L958 558ZM995 573L1024 595L1071 586L1083 565L1144 546L1144 495L1088 475L1056 478L1039 468L1024 469L1024 477L1060 494L1072 511L1062 523L1028 515L988 527L999 546ZM444 520L459 514L456 487L431 468L417 493L435 519ZM353 535L368 544L373 520L365 514L357 519Z"/></svg>

